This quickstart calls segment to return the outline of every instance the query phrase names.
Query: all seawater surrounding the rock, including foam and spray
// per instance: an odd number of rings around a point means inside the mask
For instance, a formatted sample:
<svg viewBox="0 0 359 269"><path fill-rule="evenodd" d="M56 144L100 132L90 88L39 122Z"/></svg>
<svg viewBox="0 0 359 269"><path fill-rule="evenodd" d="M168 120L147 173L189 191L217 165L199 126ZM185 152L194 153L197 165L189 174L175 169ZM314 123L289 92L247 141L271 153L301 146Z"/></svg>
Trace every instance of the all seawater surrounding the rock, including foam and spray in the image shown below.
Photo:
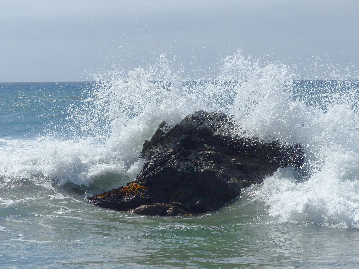
<svg viewBox="0 0 359 269"><path fill-rule="evenodd" d="M159 62L94 82L0 83L0 268L357 268L359 82L295 80L240 53L210 80ZM136 178L162 121L200 109L300 143L302 170L278 169L194 217L88 203Z"/></svg>

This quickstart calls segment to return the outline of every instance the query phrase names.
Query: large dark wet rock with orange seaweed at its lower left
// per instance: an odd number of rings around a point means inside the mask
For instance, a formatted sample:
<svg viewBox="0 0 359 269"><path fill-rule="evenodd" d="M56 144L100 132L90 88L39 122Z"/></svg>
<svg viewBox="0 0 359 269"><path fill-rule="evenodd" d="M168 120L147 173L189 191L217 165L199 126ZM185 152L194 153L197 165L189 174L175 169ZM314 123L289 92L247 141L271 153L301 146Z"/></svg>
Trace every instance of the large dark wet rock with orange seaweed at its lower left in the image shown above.
<svg viewBox="0 0 359 269"><path fill-rule="evenodd" d="M219 111L187 115L166 133L164 124L143 144L147 162L137 179L90 197L93 204L137 214L189 216L222 207L241 188L261 183L279 167L303 166L302 146L233 137L239 127Z"/></svg>

